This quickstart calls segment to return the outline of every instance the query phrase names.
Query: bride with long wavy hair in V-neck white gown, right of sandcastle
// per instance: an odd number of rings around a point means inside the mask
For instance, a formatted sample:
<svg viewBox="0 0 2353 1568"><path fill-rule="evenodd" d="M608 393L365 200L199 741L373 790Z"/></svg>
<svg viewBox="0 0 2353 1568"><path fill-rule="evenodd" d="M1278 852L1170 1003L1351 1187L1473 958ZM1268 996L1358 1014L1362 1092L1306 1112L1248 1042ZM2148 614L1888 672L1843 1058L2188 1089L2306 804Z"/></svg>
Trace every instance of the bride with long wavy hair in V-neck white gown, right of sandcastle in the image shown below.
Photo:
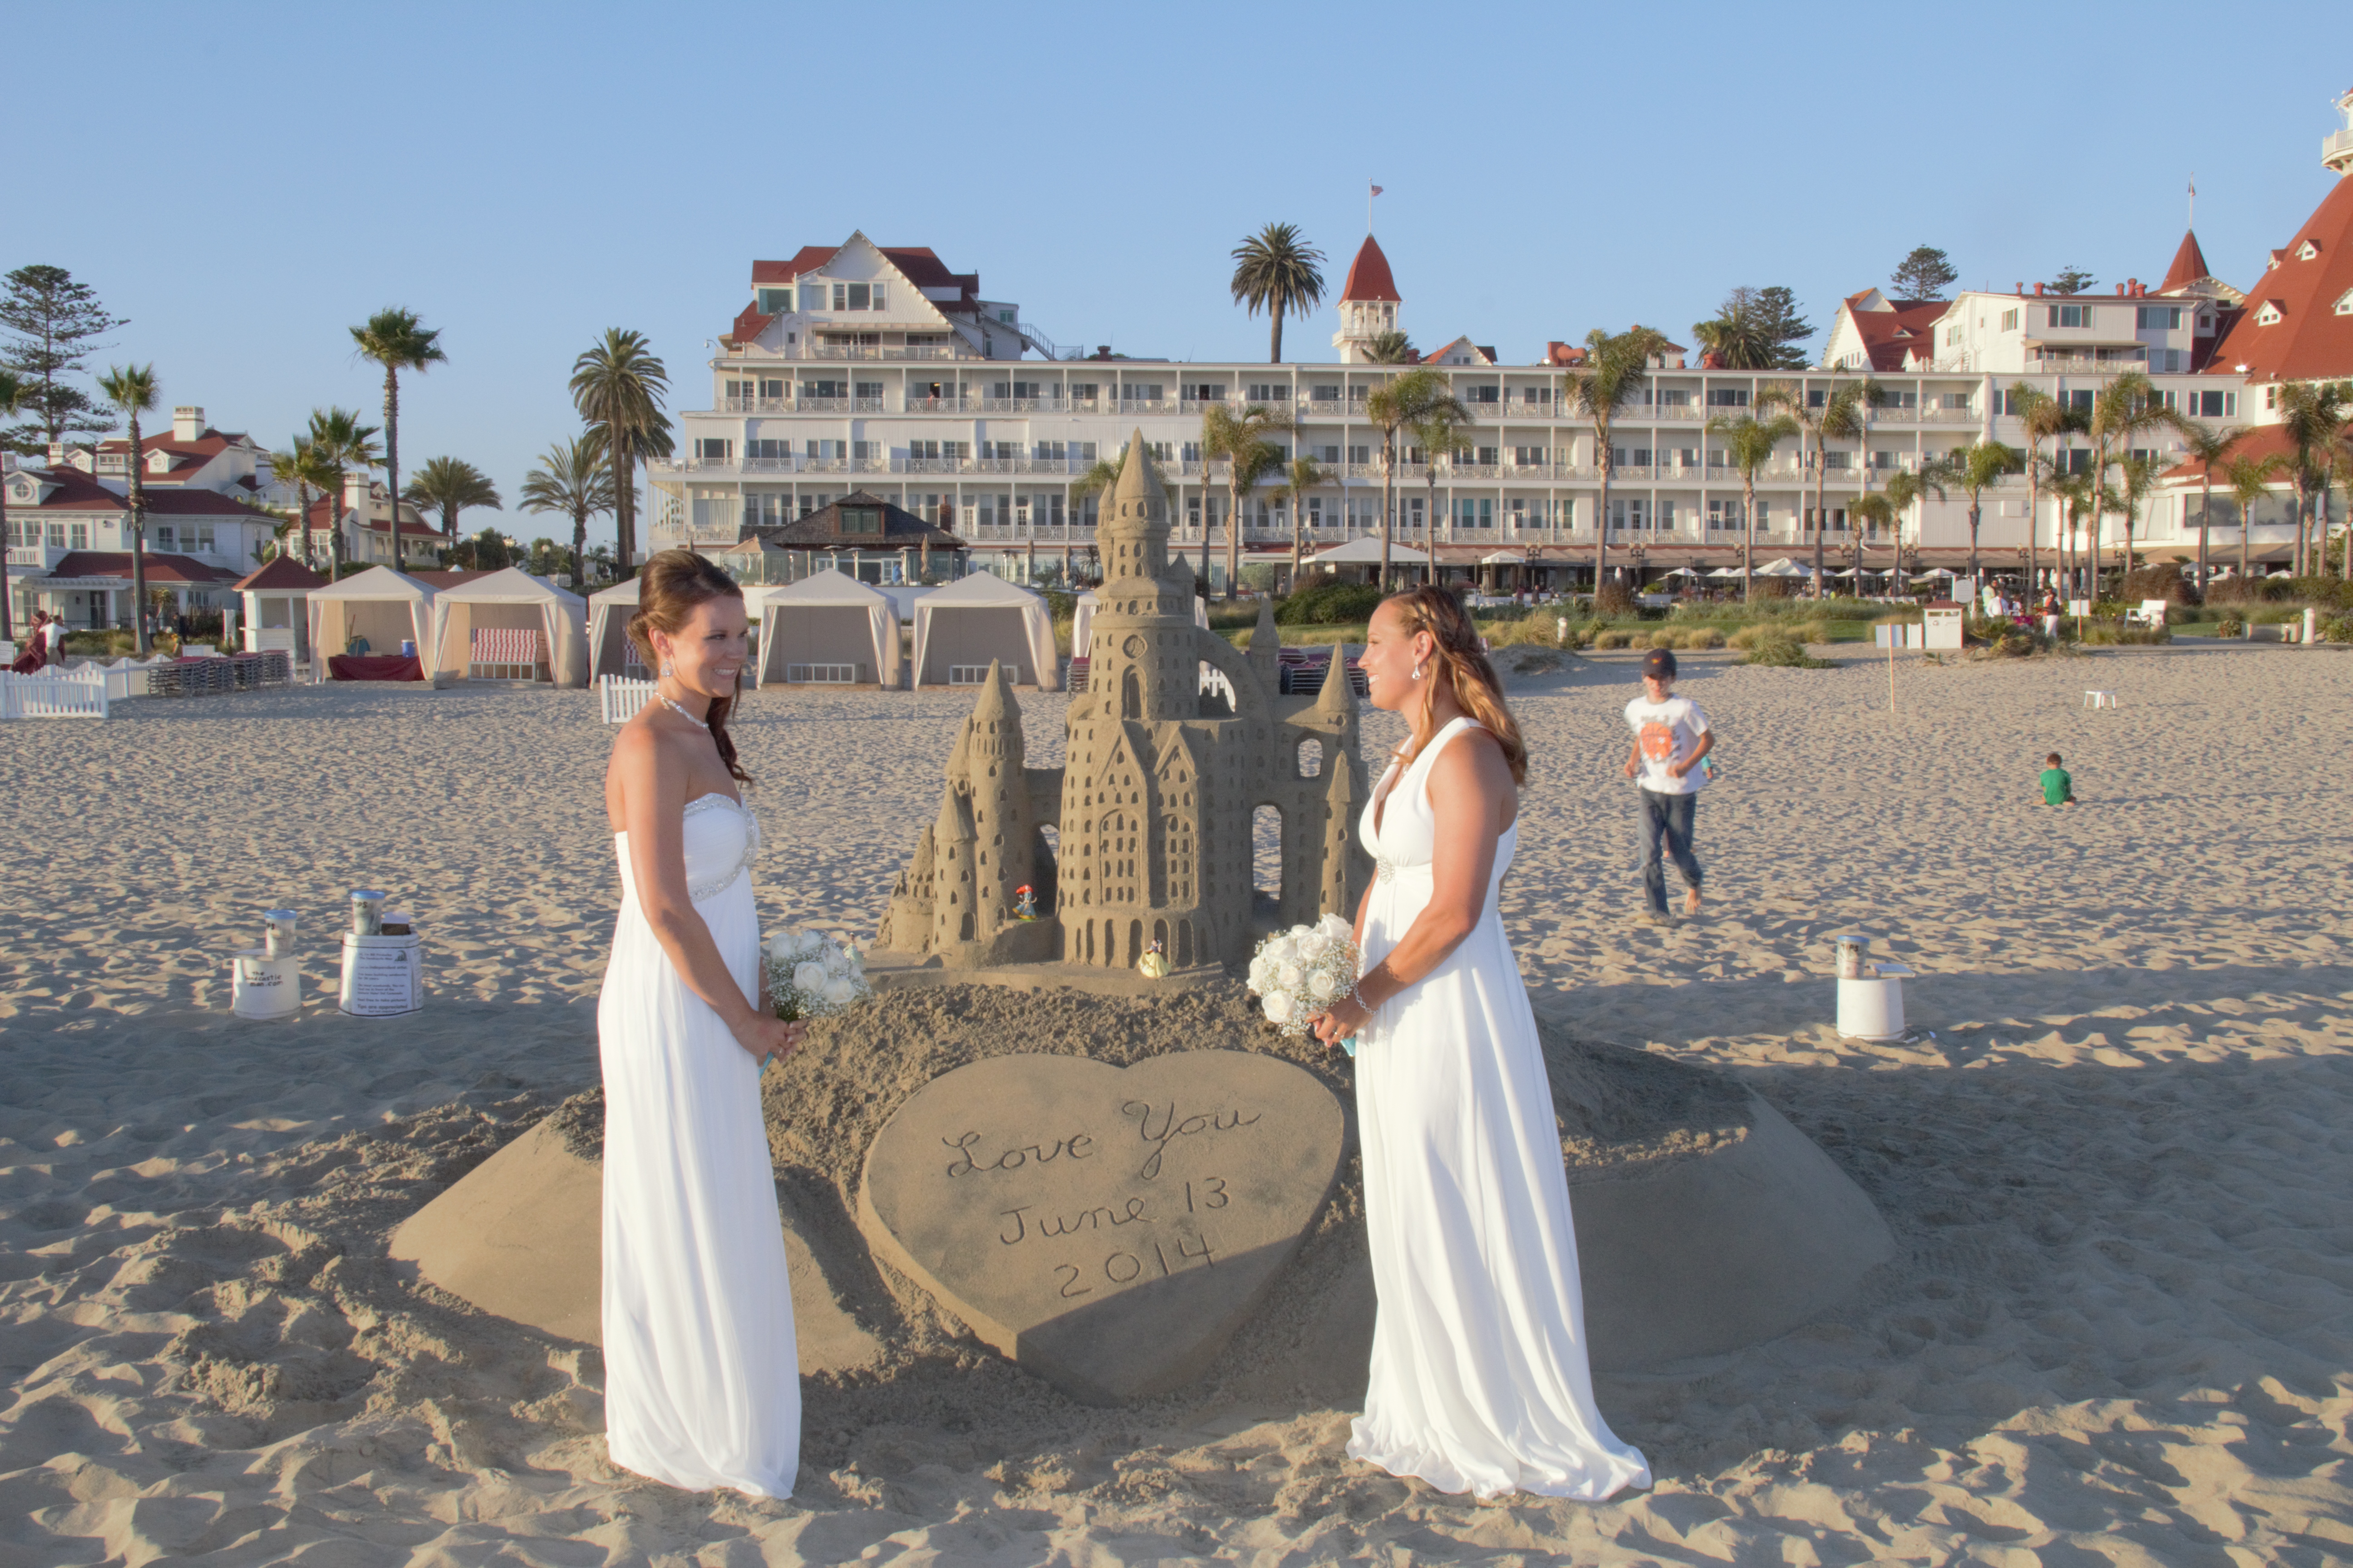
<svg viewBox="0 0 2353 1568"><path fill-rule="evenodd" d="M1362 668L1412 738L1358 827L1365 973L1315 1018L1327 1044L1358 1037L1379 1298L1348 1455L1480 1497L1649 1486L1593 1406L1553 1091L1494 907L1527 750L1452 595L1381 602Z"/></svg>

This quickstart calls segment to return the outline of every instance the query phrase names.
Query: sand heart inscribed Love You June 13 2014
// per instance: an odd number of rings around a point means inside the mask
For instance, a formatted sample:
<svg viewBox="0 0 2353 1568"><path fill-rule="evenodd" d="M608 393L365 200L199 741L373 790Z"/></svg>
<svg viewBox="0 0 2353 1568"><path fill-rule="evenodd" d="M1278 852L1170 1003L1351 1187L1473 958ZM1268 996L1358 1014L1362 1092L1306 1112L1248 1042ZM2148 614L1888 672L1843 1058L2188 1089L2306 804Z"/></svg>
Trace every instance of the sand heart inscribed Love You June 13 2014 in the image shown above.
<svg viewBox="0 0 2353 1568"><path fill-rule="evenodd" d="M1273 1056L998 1056L892 1114L859 1227L981 1340L1118 1403L1209 1366L1332 1192L1344 1128Z"/></svg>

